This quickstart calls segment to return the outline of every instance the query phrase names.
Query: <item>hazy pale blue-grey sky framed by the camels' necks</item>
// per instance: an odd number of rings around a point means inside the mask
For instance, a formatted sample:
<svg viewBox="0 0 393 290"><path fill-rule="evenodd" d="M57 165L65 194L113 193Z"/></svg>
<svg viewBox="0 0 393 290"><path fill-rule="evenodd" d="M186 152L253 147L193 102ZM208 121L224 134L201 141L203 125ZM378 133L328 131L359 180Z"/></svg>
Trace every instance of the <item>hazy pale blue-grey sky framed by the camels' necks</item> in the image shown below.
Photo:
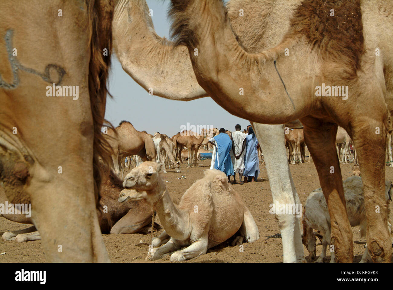
<svg viewBox="0 0 393 290"><path fill-rule="evenodd" d="M147 4L153 10L152 20L157 34L169 39L169 0L147 0ZM187 122L190 125L224 127L231 131L235 130L236 124L242 128L249 125L249 121L231 115L210 97L184 102L149 95L123 71L116 56L112 57L109 92L114 98L107 98L105 118L115 127L121 120L126 120L139 131L146 130L150 134L159 131L173 136Z"/></svg>

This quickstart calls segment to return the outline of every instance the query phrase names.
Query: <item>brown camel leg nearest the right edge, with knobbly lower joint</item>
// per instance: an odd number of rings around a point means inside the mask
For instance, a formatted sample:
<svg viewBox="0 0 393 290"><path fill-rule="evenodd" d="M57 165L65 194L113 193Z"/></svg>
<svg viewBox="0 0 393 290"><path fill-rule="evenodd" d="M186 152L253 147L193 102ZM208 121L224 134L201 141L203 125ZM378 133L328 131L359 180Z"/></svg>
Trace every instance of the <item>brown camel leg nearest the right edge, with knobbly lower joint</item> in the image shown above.
<svg viewBox="0 0 393 290"><path fill-rule="evenodd" d="M362 169L367 248L374 262L390 262L392 246L387 227L388 209L385 199L385 126L384 123L368 117L356 121L364 124L354 128L351 137ZM377 127L380 134L376 133Z"/></svg>

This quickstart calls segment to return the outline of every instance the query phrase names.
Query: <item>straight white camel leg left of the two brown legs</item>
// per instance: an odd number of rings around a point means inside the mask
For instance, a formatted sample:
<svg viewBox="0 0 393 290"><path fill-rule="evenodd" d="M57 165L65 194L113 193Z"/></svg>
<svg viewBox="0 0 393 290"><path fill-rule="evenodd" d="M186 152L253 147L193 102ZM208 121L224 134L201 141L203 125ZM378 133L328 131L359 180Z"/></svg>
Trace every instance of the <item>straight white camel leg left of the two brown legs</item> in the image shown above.
<svg viewBox="0 0 393 290"><path fill-rule="evenodd" d="M251 125L257 134L266 161L273 203L300 204L288 160L286 160L283 125L265 125L254 122L251 122ZM275 215L282 237L284 262L305 261L301 242L300 215Z"/></svg>

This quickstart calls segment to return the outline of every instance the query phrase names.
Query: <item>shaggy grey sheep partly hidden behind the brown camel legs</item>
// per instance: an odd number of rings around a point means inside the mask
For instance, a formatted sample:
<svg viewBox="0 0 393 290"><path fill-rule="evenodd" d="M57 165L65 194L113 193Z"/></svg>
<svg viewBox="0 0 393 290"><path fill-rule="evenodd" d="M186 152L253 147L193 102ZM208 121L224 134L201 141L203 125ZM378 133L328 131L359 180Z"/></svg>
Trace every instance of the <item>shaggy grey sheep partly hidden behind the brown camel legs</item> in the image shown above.
<svg viewBox="0 0 393 290"><path fill-rule="evenodd" d="M363 185L362 178L359 176L351 176L343 181L344 192L345 192L345 203L347 205L347 214L349 218L349 223L351 226L360 226L360 235L365 237L366 234L366 215L364 208L364 196L363 196ZM391 200L391 194L393 193L392 183L386 181L385 183L385 194L386 203L389 204ZM313 261L316 256L316 238L315 236L321 238L322 236L322 253L316 262L323 262L326 257L327 245L330 245L330 235L331 235L331 223L329 211L327 209L327 204L325 197L323 196L322 189L318 188L312 193L306 200L303 215L303 235L302 241L306 246L307 250L310 252L309 261ZM389 222L389 232L391 232L391 224ZM314 233L312 229L320 231ZM365 253L360 262L366 262L369 259L368 250L366 248ZM330 262L335 262L334 251L331 252Z"/></svg>

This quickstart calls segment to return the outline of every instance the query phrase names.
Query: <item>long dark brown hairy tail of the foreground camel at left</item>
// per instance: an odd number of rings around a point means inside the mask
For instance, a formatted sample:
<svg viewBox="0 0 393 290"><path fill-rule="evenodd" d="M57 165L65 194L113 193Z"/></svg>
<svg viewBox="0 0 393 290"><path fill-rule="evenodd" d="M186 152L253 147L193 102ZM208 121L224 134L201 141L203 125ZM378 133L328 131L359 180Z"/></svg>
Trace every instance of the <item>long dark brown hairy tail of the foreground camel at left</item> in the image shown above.
<svg viewBox="0 0 393 290"><path fill-rule="evenodd" d="M95 202L98 202L98 191L101 185L102 169L99 165L102 159L105 165L110 164L110 152L113 151L107 139L101 133L101 128L106 124L113 128L112 124L104 119L105 104L108 88L107 79L112 52L112 17L113 5L111 1L86 0L89 17L90 34L90 62L89 62L89 96L90 107L93 117L93 176ZM103 51L107 50L107 55ZM105 53L106 54L106 53ZM110 95L110 94L109 94Z"/></svg>

